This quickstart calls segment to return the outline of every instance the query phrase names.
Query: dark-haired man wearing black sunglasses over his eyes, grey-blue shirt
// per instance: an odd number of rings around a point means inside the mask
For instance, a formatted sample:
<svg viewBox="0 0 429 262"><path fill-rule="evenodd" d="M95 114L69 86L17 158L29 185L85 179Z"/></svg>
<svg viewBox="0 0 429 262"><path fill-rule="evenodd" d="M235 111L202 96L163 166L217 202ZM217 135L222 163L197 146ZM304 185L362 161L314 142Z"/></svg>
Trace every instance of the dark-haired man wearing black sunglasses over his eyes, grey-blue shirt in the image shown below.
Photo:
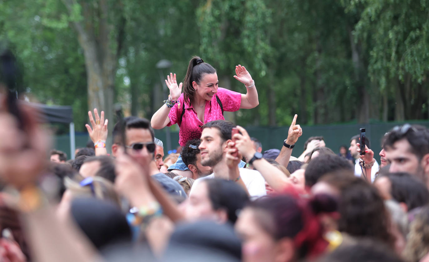
<svg viewBox="0 0 429 262"><path fill-rule="evenodd" d="M151 123L144 118L129 116L124 118L125 148L140 165L148 166L149 172L155 180L171 195L186 197L186 193L179 183L160 173L154 160L156 144L154 143L154 130ZM121 127L115 125L112 132L112 155L118 155L118 149L122 146Z"/></svg>

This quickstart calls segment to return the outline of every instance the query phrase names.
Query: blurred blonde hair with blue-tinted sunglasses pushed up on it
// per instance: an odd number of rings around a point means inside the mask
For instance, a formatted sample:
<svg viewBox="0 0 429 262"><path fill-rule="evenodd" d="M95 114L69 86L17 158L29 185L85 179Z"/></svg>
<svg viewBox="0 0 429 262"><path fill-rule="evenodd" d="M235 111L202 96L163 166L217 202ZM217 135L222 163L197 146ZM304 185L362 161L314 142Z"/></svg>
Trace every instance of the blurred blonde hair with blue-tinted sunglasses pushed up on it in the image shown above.
<svg viewBox="0 0 429 262"><path fill-rule="evenodd" d="M81 185L82 181L88 181L87 185ZM64 178L64 186L73 196L94 197L110 201L120 206L119 197L116 193L113 183L103 177L87 177L81 182L74 181L69 177Z"/></svg>

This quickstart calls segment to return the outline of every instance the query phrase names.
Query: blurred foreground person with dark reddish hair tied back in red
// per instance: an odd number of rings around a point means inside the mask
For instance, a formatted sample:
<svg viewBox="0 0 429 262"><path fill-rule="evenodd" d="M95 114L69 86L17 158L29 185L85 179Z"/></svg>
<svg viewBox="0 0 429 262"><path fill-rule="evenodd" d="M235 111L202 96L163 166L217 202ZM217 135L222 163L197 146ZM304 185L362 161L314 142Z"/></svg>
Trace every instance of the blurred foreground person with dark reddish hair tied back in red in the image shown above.
<svg viewBox="0 0 429 262"><path fill-rule="evenodd" d="M243 261L317 258L329 246L318 214L335 211L336 205L331 203L318 197L308 201L290 195L266 196L251 202L236 222L236 231L243 240Z"/></svg>

